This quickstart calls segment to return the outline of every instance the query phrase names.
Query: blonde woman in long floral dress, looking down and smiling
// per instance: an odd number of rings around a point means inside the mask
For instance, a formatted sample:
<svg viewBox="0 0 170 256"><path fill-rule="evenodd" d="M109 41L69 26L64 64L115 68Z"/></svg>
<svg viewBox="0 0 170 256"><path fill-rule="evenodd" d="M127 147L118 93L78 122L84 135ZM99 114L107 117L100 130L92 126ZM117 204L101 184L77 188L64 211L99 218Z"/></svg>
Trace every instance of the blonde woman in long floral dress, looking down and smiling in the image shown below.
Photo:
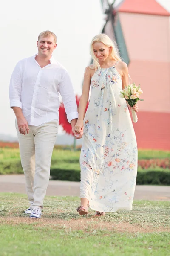
<svg viewBox="0 0 170 256"><path fill-rule="evenodd" d="M127 64L105 34L96 35L90 46L93 64L86 67L79 118L75 130L84 128L80 155L80 215L88 206L96 216L119 209L131 210L137 174L137 145L125 99L120 91L128 86ZM91 84L91 97L88 102ZM137 105L133 110L138 112ZM84 124L83 124L84 119Z"/></svg>

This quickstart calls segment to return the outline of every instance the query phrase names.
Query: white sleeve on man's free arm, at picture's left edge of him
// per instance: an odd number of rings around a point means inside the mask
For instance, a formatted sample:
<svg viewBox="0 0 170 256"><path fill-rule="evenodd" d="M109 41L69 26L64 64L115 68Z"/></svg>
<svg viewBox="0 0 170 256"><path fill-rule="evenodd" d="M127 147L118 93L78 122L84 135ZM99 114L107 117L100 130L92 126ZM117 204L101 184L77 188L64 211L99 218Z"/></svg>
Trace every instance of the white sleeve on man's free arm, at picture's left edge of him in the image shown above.
<svg viewBox="0 0 170 256"><path fill-rule="evenodd" d="M20 64L17 63L11 75L11 80L9 85L10 108L11 107L22 108L22 102L20 100L21 85L22 85L22 79L21 79Z"/></svg>

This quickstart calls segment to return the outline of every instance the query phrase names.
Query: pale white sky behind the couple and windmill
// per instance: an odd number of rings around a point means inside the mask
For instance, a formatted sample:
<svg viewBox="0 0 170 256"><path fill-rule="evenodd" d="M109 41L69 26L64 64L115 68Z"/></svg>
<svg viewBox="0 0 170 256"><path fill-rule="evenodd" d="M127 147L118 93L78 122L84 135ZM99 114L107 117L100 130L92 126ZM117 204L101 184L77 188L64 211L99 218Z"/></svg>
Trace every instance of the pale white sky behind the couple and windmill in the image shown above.
<svg viewBox="0 0 170 256"><path fill-rule="evenodd" d="M109 0L113 2L113 0ZM116 0L117 3L121 0ZM170 0L157 0L170 11ZM89 44L105 23L101 0L6 0L0 8L0 134L16 137L15 116L9 108L9 81L16 63L37 53L37 36L44 30L57 35L57 59L81 95ZM62 134L62 128L59 128Z"/></svg>

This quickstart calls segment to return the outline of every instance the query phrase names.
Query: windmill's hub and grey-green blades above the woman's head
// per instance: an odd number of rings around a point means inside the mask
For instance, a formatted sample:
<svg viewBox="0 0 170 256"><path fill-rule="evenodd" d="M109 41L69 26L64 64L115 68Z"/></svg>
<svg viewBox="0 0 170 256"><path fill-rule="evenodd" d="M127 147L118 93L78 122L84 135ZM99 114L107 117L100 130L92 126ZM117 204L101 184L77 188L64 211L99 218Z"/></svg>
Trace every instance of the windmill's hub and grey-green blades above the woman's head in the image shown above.
<svg viewBox="0 0 170 256"><path fill-rule="evenodd" d="M128 65L130 60L125 44L124 35L122 32L119 14L116 11L116 2L116 0L114 0L113 3L109 3L109 0L101 0L103 13L106 16L106 21L102 29L102 33L105 33L112 40L116 41L122 60L125 61Z"/></svg>

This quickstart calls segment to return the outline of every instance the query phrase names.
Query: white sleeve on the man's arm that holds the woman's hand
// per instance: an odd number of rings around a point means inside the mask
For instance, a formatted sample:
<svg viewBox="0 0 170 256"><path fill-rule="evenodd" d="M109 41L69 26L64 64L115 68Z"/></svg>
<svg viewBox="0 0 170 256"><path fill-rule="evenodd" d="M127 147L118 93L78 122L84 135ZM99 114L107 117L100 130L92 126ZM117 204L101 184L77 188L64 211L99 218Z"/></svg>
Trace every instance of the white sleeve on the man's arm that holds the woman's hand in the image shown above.
<svg viewBox="0 0 170 256"><path fill-rule="evenodd" d="M73 85L67 71L65 71L59 83L59 93L62 96L68 122L71 123L71 120L78 118L78 112Z"/></svg>

